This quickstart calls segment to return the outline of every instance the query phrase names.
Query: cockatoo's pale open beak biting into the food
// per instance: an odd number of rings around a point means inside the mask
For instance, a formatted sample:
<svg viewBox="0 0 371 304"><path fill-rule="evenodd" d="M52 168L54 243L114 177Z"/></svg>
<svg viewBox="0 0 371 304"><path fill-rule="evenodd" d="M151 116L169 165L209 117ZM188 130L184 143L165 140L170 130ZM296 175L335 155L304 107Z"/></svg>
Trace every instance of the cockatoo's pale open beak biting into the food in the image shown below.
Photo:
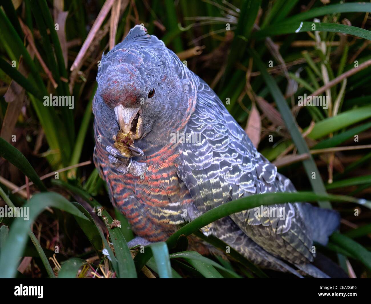
<svg viewBox="0 0 371 304"><path fill-rule="evenodd" d="M118 105L115 107L115 114L120 128L125 133L131 133L133 139L142 136L142 117L139 108L124 108Z"/></svg>

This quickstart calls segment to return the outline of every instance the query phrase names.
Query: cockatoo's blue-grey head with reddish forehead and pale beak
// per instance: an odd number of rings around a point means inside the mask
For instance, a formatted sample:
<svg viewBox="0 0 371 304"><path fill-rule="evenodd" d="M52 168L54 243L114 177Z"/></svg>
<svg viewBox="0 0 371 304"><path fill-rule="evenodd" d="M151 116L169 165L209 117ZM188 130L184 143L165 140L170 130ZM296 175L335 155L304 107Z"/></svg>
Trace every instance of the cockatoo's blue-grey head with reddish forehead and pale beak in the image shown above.
<svg viewBox="0 0 371 304"><path fill-rule="evenodd" d="M185 70L161 40L137 25L102 57L97 102L125 133L132 131L133 139L169 129L188 106L183 105L191 91Z"/></svg>

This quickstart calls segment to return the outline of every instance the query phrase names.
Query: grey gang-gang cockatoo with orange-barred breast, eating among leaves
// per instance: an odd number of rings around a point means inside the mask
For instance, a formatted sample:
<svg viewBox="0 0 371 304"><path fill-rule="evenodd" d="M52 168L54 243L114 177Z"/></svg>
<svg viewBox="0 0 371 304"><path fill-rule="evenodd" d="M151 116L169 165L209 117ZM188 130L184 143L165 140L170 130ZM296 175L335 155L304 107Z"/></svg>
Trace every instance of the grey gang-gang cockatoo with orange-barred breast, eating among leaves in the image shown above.
<svg viewBox="0 0 371 304"><path fill-rule="evenodd" d="M210 86L144 27L132 28L103 56L97 82L94 163L137 235L134 242L165 241L180 223L231 200L295 191ZM114 145L119 130L134 140L126 153ZM283 216L246 210L202 232L261 267L326 277L311 264L313 241L326 244L339 215L308 203L271 207Z"/></svg>

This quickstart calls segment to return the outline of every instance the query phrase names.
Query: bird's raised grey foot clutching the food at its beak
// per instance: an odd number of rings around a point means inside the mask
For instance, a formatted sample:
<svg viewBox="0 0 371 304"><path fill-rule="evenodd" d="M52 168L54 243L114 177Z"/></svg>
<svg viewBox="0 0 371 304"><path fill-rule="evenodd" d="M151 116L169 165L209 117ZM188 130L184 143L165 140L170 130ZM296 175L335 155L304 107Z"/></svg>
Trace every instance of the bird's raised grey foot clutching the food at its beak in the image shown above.
<svg viewBox="0 0 371 304"><path fill-rule="evenodd" d="M133 156L142 156L143 151L137 147L128 147L132 151ZM131 157L127 157L113 145L107 146L107 152L109 162L114 166L114 169L120 174L130 173L134 176L141 176L147 170L146 163L138 163L132 160Z"/></svg>

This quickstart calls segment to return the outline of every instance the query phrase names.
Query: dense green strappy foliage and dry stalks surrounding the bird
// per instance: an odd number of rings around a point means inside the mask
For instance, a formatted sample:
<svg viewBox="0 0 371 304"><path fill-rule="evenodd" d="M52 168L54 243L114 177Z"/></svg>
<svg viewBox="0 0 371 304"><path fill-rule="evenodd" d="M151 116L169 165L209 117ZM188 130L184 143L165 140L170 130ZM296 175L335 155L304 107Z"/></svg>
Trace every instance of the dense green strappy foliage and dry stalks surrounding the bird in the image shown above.
<svg viewBox="0 0 371 304"><path fill-rule="evenodd" d="M370 277L371 3L322 2L2 1L0 207L30 207L30 222L0 218L0 277L286 277L233 250L228 260L186 251L184 236L225 251L199 229L262 203L297 201L339 210L340 233L318 250L350 276ZM89 160L99 60L135 24L216 91L298 193L229 202L167 242L130 251L133 233ZM73 97L74 107L45 106L49 94ZM326 95L328 107L299 107L310 95Z"/></svg>

